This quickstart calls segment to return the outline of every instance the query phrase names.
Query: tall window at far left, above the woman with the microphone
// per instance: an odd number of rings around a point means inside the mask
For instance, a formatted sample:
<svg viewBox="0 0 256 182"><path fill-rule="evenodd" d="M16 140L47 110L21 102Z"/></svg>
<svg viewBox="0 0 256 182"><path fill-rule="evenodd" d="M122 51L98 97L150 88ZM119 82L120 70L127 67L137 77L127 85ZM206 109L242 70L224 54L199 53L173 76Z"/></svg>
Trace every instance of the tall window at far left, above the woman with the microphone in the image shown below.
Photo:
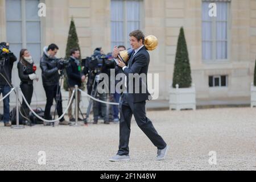
<svg viewBox="0 0 256 182"><path fill-rule="evenodd" d="M16 57L22 48L30 51L35 62L41 55L39 0L6 0L7 42Z"/></svg>

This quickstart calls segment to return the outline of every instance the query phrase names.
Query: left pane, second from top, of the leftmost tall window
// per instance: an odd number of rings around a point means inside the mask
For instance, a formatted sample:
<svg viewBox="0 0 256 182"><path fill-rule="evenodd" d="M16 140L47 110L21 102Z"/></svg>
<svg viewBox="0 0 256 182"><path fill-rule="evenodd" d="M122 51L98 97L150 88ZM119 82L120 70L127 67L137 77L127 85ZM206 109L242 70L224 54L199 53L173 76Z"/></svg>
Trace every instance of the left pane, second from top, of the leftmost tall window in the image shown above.
<svg viewBox="0 0 256 182"><path fill-rule="evenodd" d="M7 22L7 42L22 43L22 23Z"/></svg>

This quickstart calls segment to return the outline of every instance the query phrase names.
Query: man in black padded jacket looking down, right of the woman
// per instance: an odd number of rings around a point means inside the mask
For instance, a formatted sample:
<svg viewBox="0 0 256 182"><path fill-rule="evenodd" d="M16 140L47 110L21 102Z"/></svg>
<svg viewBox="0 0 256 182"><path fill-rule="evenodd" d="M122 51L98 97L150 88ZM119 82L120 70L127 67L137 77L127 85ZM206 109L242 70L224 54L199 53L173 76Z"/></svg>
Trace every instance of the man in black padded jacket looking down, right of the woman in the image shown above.
<svg viewBox="0 0 256 182"><path fill-rule="evenodd" d="M57 104L57 114L59 117L63 114L62 98L59 84L59 70L63 69L63 64L56 59L55 55L59 48L55 44L51 44L48 47L44 47L44 53L40 60L40 68L42 69L42 80L44 90L46 92L46 109L44 111L44 118L51 120L51 107L53 104L53 98ZM59 98L58 98L59 96ZM69 122L64 118L60 119L60 125L69 125ZM46 123L45 125L50 125Z"/></svg>

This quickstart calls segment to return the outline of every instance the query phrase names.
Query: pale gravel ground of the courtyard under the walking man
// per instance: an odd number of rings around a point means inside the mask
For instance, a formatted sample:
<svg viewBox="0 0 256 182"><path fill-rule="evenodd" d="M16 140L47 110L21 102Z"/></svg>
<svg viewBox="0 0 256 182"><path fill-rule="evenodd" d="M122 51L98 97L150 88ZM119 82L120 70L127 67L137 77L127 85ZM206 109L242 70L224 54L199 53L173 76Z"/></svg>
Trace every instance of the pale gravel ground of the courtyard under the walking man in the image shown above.
<svg viewBox="0 0 256 182"><path fill-rule="evenodd" d="M0 124L0 170L256 170L256 110L148 111L170 146L155 161L156 148L132 121L130 162L109 162L118 150L119 125L34 126ZM39 165L39 151L46 165ZM217 164L208 155L216 151Z"/></svg>

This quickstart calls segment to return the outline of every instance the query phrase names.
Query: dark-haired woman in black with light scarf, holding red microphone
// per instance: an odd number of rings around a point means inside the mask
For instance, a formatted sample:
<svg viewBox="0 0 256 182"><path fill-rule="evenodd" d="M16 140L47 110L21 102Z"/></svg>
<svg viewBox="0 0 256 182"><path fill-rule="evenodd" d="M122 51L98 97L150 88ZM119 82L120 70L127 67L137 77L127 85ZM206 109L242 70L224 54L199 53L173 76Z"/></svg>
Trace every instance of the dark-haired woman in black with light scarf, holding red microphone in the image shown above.
<svg viewBox="0 0 256 182"><path fill-rule="evenodd" d="M36 76L35 71L36 67L30 52L27 49L21 49L19 53L19 63L17 64L18 73L20 78L20 89L24 94L28 104L31 103L32 94L33 94L33 81L38 81L38 76ZM30 109L28 109L24 100L22 101L22 114L24 117L29 118ZM23 125L26 124L26 118L23 118Z"/></svg>

